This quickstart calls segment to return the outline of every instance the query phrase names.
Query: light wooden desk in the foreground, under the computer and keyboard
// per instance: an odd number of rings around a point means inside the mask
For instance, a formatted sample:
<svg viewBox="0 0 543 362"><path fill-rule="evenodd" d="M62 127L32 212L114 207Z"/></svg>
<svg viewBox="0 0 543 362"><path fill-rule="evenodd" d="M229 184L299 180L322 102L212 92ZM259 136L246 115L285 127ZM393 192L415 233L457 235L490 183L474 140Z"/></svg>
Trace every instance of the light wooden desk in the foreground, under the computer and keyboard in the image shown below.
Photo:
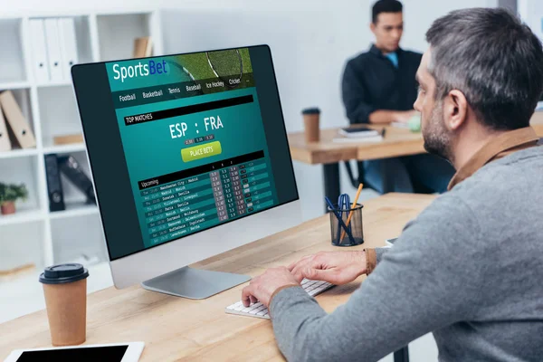
<svg viewBox="0 0 543 362"><path fill-rule="evenodd" d="M388 194L368 201L363 216L366 241L350 250L384 245L386 238L399 234L432 200L432 195ZM193 266L256 276L266 268L286 265L321 250L339 250L330 244L328 215ZM317 300L331 312L345 303L364 279L362 276L326 291ZM240 299L244 285L207 300L176 298L138 286L92 293L88 300L86 344L142 340L146 343L142 361L283 360L269 320L224 313L226 306ZM0 325L0 336L2 359L16 348L51 344L44 310Z"/></svg>

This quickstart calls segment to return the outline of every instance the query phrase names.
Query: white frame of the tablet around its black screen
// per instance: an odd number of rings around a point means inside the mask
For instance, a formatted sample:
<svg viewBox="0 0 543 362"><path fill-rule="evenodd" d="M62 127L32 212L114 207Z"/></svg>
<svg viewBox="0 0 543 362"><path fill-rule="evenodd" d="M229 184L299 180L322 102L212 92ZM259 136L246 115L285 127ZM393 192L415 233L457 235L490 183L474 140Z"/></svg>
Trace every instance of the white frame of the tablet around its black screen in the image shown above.
<svg viewBox="0 0 543 362"><path fill-rule="evenodd" d="M111 361L138 362L143 352L143 342L107 345L70 346L57 348L16 349L5 362L36 361Z"/></svg>

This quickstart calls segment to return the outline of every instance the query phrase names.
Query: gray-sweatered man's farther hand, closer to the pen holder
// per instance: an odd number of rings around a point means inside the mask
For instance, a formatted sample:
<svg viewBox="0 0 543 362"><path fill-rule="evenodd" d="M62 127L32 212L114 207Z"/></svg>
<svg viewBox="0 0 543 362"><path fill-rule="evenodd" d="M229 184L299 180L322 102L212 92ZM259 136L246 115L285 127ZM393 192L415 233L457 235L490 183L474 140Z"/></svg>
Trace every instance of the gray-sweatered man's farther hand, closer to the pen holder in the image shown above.
<svg viewBox="0 0 543 362"><path fill-rule="evenodd" d="M366 252L318 252L291 263L288 270L298 282L307 278L347 284L366 272Z"/></svg>

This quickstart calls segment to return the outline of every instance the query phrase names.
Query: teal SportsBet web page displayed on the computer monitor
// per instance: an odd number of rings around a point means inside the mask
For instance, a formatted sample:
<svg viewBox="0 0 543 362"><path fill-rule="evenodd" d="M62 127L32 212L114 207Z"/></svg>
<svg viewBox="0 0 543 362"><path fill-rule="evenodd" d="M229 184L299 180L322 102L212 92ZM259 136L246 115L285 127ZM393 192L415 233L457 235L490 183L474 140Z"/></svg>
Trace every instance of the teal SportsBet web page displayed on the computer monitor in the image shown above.
<svg viewBox="0 0 543 362"><path fill-rule="evenodd" d="M248 49L106 67L145 247L278 205Z"/></svg>

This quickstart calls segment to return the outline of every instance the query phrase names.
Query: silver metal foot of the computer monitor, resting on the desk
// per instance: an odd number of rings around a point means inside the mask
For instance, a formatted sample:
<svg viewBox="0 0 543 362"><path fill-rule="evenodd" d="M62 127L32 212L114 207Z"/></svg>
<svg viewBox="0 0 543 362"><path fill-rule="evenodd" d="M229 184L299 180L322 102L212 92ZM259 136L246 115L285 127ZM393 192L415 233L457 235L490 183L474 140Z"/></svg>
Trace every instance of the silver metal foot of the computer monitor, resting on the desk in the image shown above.
<svg viewBox="0 0 543 362"><path fill-rule="evenodd" d="M251 277L248 275L204 271L186 266L144 281L141 286L148 291L158 291L191 300L204 300L250 280Z"/></svg>

